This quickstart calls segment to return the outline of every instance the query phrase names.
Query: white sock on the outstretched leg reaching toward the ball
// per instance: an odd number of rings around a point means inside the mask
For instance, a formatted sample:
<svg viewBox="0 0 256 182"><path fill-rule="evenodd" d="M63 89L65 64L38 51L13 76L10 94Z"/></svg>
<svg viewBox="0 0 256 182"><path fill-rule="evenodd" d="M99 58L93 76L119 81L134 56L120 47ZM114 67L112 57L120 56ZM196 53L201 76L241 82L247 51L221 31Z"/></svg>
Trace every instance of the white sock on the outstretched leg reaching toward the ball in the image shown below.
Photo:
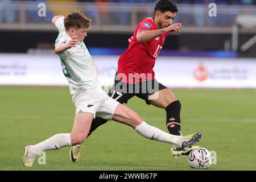
<svg viewBox="0 0 256 182"><path fill-rule="evenodd" d="M171 135L154 126L148 125L146 122L142 122L138 125L135 130L141 134L143 137L146 137L151 140L158 140L159 142L166 142L171 144L177 144L181 136Z"/></svg>

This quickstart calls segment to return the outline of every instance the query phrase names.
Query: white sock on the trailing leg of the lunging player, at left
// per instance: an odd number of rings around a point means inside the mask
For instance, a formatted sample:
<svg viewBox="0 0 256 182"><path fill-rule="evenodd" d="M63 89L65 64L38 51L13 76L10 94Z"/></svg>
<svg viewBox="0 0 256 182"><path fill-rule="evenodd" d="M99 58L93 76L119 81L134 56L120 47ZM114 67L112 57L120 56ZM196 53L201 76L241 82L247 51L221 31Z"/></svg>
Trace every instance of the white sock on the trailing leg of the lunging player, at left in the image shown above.
<svg viewBox="0 0 256 182"><path fill-rule="evenodd" d="M72 146L69 133L53 135L51 138L32 146L31 150L35 151L36 155L38 155L42 151L56 150L65 146Z"/></svg>

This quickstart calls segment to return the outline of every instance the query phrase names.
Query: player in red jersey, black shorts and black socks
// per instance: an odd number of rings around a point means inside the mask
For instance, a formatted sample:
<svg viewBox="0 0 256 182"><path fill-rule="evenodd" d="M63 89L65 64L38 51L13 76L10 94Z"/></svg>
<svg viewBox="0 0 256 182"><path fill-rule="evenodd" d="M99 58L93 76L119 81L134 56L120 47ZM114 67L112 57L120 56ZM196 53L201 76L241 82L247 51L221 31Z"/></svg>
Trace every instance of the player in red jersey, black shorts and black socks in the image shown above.
<svg viewBox="0 0 256 182"><path fill-rule="evenodd" d="M109 96L121 104L137 96L146 101L146 104L165 109L166 126L173 135L181 135L181 104L170 89L156 81L153 68L166 37L172 32L179 32L181 28L181 23L172 23L177 11L171 0L156 3L154 18L143 19L128 40L129 47L119 57L115 82L109 90ZM89 134L105 122L107 121L102 118L94 119ZM82 144L79 144L71 148L73 162L78 160L81 147ZM188 155L196 147L198 146L183 151L172 146L171 153L174 156Z"/></svg>

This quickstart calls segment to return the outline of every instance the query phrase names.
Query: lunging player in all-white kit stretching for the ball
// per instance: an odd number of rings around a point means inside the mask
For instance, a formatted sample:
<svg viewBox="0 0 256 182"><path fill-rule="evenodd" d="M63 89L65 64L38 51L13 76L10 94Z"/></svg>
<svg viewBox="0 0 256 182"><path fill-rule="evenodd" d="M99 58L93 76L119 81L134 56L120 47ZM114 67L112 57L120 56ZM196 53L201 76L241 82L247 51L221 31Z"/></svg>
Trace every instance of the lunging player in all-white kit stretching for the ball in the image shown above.
<svg viewBox="0 0 256 182"><path fill-rule="evenodd" d="M143 137L176 144L182 150L199 142L200 133L187 136L171 135L148 125L135 111L119 104L102 90L92 57L83 42L90 24L88 18L79 11L74 11L65 17L54 16L52 23L59 30L55 53L60 56L63 73L69 82L76 116L71 133L56 134L43 142L24 147L24 166L31 167L36 155L42 151L84 142L96 116L124 123L133 127Z"/></svg>

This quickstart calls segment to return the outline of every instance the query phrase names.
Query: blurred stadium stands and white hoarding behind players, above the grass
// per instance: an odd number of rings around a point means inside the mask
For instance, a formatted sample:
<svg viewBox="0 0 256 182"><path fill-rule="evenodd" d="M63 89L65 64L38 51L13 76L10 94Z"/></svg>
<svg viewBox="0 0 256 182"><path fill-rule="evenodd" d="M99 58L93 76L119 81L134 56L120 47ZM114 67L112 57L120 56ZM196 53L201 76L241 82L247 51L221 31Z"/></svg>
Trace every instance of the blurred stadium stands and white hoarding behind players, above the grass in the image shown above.
<svg viewBox="0 0 256 182"><path fill-rule="evenodd" d="M255 1L174 2L179 7L175 22L183 28L164 44L155 68L159 81L171 88L256 88ZM217 16L209 16L212 2ZM86 46L101 84L111 85L118 56L127 48L135 26L153 15L154 4L152 0L1 0L0 84L67 85L57 72L53 52L57 30L51 19L80 10L93 20Z"/></svg>

